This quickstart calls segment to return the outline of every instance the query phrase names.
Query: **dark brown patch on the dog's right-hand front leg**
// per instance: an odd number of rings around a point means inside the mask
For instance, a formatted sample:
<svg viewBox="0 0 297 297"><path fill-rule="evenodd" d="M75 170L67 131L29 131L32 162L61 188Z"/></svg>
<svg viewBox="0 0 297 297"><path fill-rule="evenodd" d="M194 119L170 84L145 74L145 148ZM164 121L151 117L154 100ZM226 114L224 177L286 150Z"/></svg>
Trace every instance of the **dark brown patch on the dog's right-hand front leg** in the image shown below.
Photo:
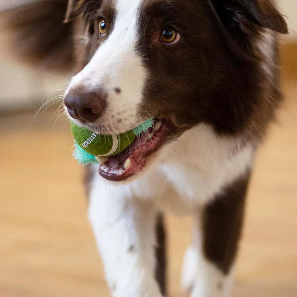
<svg viewBox="0 0 297 297"><path fill-rule="evenodd" d="M228 274L238 250L249 174L226 186L203 211L206 258Z"/></svg>

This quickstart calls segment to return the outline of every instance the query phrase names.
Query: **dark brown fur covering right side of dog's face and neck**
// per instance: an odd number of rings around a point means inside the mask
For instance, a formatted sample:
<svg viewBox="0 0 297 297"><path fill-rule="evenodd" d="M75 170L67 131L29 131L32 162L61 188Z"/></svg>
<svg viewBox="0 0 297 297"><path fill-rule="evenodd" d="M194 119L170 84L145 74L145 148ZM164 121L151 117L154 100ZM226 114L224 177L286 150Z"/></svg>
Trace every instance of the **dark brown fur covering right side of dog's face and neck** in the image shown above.
<svg viewBox="0 0 297 297"><path fill-rule="evenodd" d="M252 9L240 7L241 1L235 1L238 12L233 8L233 15L221 11L228 1L217 2L219 8L208 1L154 1L143 6L139 51L148 58L150 73L143 104L150 114L171 119L176 133L204 122L220 135L255 141L263 137L281 99L277 74L273 81L267 78L264 57L257 50L268 22L254 23ZM258 14L271 18L271 28L284 32L285 23L279 23L280 15L272 11ZM226 15L228 26L222 21ZM166 47L155 39L154 32L165 23L182 32L177 45Z"/></svg>

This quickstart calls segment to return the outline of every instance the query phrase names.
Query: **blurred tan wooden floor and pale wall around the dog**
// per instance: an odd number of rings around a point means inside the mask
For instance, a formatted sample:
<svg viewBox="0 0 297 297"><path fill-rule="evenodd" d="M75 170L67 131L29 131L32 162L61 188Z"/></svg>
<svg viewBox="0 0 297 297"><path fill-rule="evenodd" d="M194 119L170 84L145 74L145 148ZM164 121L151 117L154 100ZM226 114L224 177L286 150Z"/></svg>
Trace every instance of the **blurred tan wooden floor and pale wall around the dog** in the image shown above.
<svg viewBox="0 0 297 297"><path fill-rule="evenodd" d="M0 7L12 3L0 0ZM237 297L297 296L297 1L278 5L290 28L280 45L285 103L255 162ZM0 52L3 297L109 296L87 221L82 168L71 157L68 121L59 110L62 101L56 102L69 80L61 76L29 69ZM187 296L177 280L191 218L168 216L167 223L169 296Z"/></svg>

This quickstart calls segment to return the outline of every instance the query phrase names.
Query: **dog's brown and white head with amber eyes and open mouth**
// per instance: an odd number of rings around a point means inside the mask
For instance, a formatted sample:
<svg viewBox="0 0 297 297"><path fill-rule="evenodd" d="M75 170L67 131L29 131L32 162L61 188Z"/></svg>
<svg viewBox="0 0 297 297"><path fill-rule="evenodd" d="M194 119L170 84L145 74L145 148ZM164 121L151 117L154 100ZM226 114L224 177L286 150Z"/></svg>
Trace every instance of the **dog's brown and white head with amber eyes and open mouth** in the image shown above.
<svg viewBox="0 0 297 297"><path fill-rule="evenodd" d="M64 100L73 120L102 134L148 118L162 125L149 131L143 156L132 156L137 170L101 170L108 179L138 172L165 137L196 124L251 138L273 116L273 32L287 25L270 0L69 0L64 23L72 24L78 72Z"/></svg>

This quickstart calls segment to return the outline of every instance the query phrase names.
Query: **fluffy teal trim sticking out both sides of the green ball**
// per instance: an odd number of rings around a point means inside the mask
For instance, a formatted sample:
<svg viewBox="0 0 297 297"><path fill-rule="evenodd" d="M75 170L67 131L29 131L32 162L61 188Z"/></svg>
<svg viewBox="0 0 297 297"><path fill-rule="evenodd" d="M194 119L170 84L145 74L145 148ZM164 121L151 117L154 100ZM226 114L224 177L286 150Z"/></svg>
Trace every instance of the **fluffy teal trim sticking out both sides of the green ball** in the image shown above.
<svg viewBox="0 0 297 297"><path fill-rule="evenodd" d="M142 131L153 127L153 119L148 119L144 123L140 124L138 127L134 128L133 131L136 136L140 136ZM87 165L89 163L98 164L98 161L95 156L84 151L75 141L75 149L72 156L75 160L78 160L78 164Z"/></svg>

